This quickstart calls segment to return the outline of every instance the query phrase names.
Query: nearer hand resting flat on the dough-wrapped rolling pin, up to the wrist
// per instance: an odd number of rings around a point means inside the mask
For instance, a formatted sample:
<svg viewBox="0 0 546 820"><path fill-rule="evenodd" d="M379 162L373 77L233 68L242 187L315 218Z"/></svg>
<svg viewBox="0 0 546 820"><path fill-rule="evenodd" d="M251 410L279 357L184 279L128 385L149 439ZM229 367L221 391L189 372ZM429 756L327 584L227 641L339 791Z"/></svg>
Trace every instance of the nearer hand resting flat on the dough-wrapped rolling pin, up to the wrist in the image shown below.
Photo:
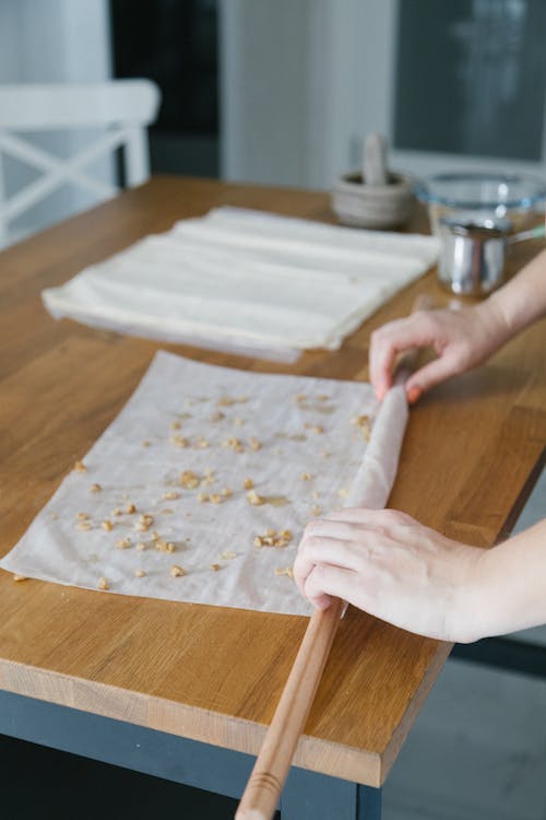
<svg viewBox="0 0 546 820"><path fill-rule="evenodd" d="M392 509L339 509L310 522L294 564L317 609L332 597L442 641L477 640L484 550Z"/></svg>

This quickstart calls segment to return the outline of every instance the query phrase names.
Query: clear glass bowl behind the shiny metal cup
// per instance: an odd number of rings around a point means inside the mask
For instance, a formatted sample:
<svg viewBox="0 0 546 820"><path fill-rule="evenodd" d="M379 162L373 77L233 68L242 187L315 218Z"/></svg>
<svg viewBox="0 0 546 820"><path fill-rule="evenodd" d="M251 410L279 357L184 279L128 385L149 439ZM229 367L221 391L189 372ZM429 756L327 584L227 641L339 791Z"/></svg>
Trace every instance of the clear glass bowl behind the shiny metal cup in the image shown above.
<svg viewBox="0 0 546 820"><path fill-rule="evenodd" d="M415 184L417 199L428 206L430 227L440 234L440 220L506 221L510 233L525 230L544 215L546 183L517 174L437 174Z"/></svg>

